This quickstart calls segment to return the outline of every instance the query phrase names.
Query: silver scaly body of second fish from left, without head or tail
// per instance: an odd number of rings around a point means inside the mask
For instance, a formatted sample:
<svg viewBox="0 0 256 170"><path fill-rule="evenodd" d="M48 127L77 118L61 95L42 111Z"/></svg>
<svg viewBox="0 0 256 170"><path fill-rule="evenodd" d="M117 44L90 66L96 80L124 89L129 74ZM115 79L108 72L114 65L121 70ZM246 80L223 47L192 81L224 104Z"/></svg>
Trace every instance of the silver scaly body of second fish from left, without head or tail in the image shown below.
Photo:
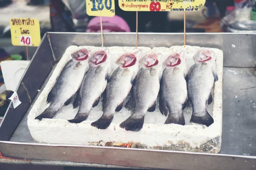
<svg viewBox="0 0 256 170"><path fill-rule="evenodd" d="M96 71L96 69L99 69L98 67L101 67L100 69L102 70ZM102 67L99 65L98 67L90 66L88 73L83 79L80 90L81 101L78 113L89 113L93 103L105 90L107 85L107 80L105 79L107 70L104 66Z"/></svg>

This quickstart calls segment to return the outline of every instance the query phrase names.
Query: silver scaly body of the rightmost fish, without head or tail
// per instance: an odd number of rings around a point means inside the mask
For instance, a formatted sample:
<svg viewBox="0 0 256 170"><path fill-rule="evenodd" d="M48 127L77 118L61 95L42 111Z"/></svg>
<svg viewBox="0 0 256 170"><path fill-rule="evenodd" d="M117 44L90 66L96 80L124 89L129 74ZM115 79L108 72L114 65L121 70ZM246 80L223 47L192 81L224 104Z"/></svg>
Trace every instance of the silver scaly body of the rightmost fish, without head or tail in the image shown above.
<svg viewBox="0 0 256 170"><path fill-rule="evenodd" d="M207 63L195 64L190 68L187 88L193 113L204 113L213 83L212 65Z"/></svg>

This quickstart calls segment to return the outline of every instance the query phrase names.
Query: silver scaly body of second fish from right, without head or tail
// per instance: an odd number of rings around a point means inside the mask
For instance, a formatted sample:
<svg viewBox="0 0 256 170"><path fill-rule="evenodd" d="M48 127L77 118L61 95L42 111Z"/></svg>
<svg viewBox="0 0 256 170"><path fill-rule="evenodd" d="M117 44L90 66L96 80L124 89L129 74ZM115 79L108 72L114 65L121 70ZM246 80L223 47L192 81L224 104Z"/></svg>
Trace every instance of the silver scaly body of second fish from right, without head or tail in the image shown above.
<svg viewBox="0 0 256 170"><path fill-rule="evenodd" d="M186 79L181 69L165 69L160 86L160 99L171 113L182 111L182 105L187 98Z"/></svg>

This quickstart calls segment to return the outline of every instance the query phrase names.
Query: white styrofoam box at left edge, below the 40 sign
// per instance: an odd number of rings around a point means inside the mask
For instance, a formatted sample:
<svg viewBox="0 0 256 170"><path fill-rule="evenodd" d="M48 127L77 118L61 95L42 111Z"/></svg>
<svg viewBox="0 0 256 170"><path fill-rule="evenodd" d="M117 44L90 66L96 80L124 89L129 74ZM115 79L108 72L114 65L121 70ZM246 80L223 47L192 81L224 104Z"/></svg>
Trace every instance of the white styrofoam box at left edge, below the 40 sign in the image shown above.
<svg viewBox="0 0 256 170"><path fill-rule="evenodd" d="M30 61L7 60L0 63L6 90L16 91Z"/></svg>

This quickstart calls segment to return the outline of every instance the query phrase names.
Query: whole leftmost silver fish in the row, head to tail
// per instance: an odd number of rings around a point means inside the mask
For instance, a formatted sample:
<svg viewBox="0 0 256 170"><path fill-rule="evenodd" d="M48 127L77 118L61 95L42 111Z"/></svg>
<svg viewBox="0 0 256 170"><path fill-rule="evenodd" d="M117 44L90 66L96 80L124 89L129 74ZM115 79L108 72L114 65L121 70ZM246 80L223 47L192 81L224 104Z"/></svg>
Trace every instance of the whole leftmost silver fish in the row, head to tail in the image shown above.
<svg viewBox="0 0 256 170"><path fill-rule="evenodd" d="M72 59L66 63L47 96L49 107L35 119L52 119L61 107L70 104L89 67L87 62L89 55L90 51L86 48L81 48L71 54Z"/></svg>

